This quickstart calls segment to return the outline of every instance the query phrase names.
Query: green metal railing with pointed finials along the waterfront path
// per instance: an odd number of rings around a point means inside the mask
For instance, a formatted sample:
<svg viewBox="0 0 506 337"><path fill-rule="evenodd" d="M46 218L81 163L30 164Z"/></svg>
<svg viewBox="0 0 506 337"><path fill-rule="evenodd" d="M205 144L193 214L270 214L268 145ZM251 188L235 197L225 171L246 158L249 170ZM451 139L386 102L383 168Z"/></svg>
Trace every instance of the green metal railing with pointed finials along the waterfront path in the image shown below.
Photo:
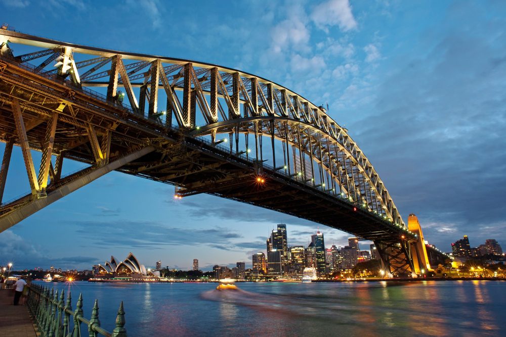
<svg viewBox="0 0 506 337"><path fill-rule="evenodd" d="M30 286L28 309L41 337L126 337L123 301L116 316L116 327L111 333L100 327L98 300L95 300L89 320L83 317L82 294L79 294L75 310L72 310L70 292L66 302L64 300L63 290L58 294L58 290L55 292L48 287L36 284ZM83 328L82 323L86 327Z"/></svg>

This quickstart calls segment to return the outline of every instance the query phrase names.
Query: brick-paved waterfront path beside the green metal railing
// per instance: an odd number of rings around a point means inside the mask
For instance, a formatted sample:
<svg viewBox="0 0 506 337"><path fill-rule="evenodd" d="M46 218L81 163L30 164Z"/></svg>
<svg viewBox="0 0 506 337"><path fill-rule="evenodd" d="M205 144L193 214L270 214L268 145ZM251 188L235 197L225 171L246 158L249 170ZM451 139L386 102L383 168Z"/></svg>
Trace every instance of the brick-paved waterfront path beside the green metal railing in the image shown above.
<svg viewBox="0 0 506 337"><path fill-rule="evenodd" d="M12 289L0 289L0 337L34 337L28 309L13 305L13 300Z"/></svg>

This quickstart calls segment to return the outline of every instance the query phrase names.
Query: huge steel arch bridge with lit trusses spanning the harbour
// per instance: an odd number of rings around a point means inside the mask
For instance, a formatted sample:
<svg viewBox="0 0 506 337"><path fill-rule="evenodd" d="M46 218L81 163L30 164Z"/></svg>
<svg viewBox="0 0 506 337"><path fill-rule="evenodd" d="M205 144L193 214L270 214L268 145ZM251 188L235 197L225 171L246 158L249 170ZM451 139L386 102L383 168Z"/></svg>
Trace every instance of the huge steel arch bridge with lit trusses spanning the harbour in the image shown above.
<svg viewBox="0 0 506 337"><path fill-rule="evenodd" d="M347 130L323 106L239 70L4 26L0 140L0 231L118 171L175 185L175 198L211 194L372 240L394 275L430 268L416 217L404 223ZM6 202L13 146L31 192ZM67 160L89 166L64 176Z"/></svg>

